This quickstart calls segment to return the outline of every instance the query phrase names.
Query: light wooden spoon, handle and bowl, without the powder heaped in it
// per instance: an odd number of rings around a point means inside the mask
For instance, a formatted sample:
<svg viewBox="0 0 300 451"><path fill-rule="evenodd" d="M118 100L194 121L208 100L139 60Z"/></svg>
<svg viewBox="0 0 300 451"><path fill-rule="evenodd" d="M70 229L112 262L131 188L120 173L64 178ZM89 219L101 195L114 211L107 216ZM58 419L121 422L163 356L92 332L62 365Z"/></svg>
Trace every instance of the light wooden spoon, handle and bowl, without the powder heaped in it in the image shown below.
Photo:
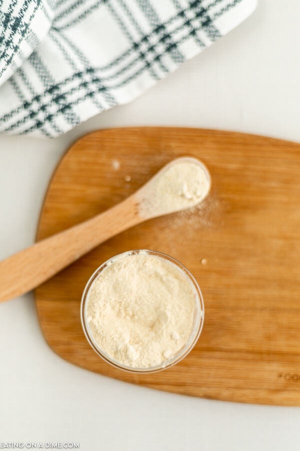
<svg viewBox="0 0 300 451"><path fill-rule="evenodd" d="M202 177L201 193L197 193L192 199L190 195L185 196L184 192L182 195L174 192L178 199L181 196L182 202L177 205L171 201L164 202L161 208L160 198L164 193L159 187L165 187L165 182L171 174L170 169L184 163L196 165L198 168L198 174ZM178 166L176 168L180 170ZM173 180L173 186L170 181L168 188L177 189L179 182L182 185L185 185L185 181L188 183L188 179L184 180L183 176L182 180L181 177L179 179L177 177ZM210 184L209 172L199 160L190 157L172 160L135 193L112 208L0 262L0 302L32 290L99 244L134 225L196 205L207 196Z"/></svg>

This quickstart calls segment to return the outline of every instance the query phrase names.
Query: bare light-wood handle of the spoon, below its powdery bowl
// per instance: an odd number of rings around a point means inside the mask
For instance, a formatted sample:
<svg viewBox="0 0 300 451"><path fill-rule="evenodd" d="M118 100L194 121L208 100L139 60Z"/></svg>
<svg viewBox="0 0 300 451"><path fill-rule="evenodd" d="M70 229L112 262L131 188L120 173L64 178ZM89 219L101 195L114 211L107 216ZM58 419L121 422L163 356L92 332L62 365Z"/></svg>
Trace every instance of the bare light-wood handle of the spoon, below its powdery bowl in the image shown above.
<svg viewBox="0 0 300 451"><path fill-rule="evenodd" d="M93 248L142 222L130 196L91 219L74 225L0 262L0 302L45 282Z"/></svg>

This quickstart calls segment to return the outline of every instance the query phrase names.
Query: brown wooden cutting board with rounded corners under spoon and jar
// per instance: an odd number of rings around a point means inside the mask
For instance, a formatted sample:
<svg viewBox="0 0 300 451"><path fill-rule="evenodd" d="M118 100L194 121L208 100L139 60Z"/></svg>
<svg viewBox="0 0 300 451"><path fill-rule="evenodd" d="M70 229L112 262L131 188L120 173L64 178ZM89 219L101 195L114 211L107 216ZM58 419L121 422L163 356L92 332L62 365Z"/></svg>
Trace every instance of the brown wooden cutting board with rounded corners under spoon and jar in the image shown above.
<svg viewBox="0 0 300 451"><path fill-rule="evenodd" d="M37 288L44 337L68 362L123 381L205 398L300 405L299 144L189 128L90 133L71 146L52 177L37 240L114 205L184 155L200 158L212 176L200 210L140 224ZM79 320L91 273L113 255L139 248L182 262L205 304L192 352L146 375L101 360Z"/></svg>

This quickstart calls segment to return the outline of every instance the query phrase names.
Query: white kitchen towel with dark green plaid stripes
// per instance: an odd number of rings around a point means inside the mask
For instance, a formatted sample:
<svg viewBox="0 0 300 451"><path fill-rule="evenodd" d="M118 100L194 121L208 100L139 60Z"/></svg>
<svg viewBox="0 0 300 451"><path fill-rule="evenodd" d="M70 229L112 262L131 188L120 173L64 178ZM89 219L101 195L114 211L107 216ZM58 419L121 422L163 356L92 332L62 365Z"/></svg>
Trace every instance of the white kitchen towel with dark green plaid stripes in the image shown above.
<svg viewBox="0 0 300 451"><path fill-rule="evenodd" d="M0 131L57 136L228 33L256 0L0 0Z"/></svg>

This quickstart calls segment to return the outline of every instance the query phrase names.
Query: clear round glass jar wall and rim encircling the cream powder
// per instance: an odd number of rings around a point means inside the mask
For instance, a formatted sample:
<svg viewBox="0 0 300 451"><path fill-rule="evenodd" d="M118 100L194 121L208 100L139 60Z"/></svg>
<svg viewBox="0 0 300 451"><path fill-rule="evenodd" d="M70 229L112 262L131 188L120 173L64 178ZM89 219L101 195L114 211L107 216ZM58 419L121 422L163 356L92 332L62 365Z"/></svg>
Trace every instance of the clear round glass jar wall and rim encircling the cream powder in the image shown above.
<svg viewBox="0 0 300 451"><path fill-rule="evenodd" d="M185 345L172 357L165 359L163 362L161 362L159 365L149 368L134 368L129 367L121 364L120 362L114 360L111 356L106 354L103 350L99 348L97 343L95 342L92 333L89 329L88 321L87 321L87 314L86 314L86 308L87 308L87 299L88 299L88 292L89 289L93 283L93 281L97 278L97 276L103 271L107 264L114 259L120 258L122 255L132 255L137 254L139 252L147 253L149 255L154 255L157 257L160 257L162 259L167 260L169 263L175 265L180 271L184 273L185 276L188 277L189 281L192 283L194 288L194 317L193 317L193 325L190 331L190 335L185 343ZM113 264L113 263L111 263ZM170 366L175 365L178 363L181 359L183 359L194 347L196 344L199 335L201 333L202 327L203 327L203 321L204 321L204 303L203 303L203 297L201 290L192 276L192 274L177 260L173 259L172 257L162 254L161 252L157 251L150 251L150 250L135 250L135 251L127 251L122 254L118 254L117 256L112 257L109 260L106 260L99 268L95 270L95 272L91 275L89 280L87 281L85 288L83 290L82 298L81 298L81 305L80 305L80 319L81 319L81 325L84 332L84 335L92 347L92 349L107 363L110 363L112 366L125 370L130 371L133 373L152 373L155 371L161 371L163 369L169 368Z"/></svg>

